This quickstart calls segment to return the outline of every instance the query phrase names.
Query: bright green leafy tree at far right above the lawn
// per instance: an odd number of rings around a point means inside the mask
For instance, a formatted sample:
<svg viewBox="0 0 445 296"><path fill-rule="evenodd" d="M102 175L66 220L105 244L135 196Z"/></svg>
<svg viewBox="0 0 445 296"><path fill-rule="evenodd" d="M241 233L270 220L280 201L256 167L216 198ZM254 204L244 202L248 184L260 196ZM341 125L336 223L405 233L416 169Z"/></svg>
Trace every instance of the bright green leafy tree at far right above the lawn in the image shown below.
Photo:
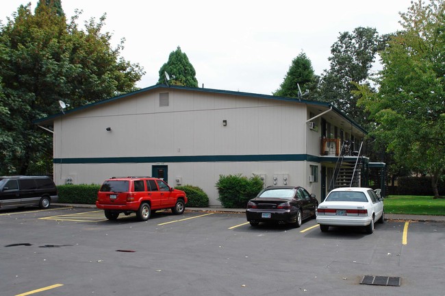
<svg viewBox="0 0 445 296"><path fill-rule="evenodd" d="M403 31L381 52L379 92L361 86L360 103L376 121L374 136L398 163L431 175L435 197L445 168L445 4L411 2Z"/></svg>

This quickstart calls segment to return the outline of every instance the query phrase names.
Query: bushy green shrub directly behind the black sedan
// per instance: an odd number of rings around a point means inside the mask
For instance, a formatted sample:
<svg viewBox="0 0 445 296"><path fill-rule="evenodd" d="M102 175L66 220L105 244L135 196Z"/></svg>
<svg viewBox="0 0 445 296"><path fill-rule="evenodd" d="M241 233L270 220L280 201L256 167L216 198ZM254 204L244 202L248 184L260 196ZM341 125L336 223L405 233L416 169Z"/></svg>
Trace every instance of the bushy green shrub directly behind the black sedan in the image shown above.
<svg viewBox="0 0 445 296"><path fill-rule="evenodd" d="M219 197L225 208L246 208L247 201L257 196L263 189L262 180L255 177L239 175L220 175L216 182Z"/></svg>

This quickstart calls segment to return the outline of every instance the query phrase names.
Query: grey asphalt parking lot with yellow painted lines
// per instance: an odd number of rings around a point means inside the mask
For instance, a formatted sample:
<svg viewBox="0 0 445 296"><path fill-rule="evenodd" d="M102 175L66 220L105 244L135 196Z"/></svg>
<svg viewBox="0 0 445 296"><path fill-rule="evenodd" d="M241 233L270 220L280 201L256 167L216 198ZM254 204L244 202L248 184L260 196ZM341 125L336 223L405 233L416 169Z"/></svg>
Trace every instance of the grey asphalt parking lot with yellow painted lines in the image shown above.
<svg viewBox="0 0 445 296"><path fill-rule="evenodd" d="M386 221L374 234L242 213L0 211L1 295L445 295L445 223ZM360 284L370 275L400 286Z"/></svg>

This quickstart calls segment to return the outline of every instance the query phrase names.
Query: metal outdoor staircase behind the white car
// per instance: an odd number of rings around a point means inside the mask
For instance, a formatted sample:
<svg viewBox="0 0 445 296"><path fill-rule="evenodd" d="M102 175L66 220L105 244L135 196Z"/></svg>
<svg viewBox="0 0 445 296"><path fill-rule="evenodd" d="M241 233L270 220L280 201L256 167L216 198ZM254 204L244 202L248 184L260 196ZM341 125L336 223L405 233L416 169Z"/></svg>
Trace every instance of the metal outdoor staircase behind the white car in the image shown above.
<svg viewBox="0 0 445 296"><path fill-rule="evenodd" d="M348 143L343 143L342 149L340 150L340 157L335 164L334 173L329 184L329 191L334 188L339 187L359 187L360 186L360 177L361 177L361 147L363 146L363 142L360 144L360 149L358 153L348 153L346 149L346 145ZM357 154L353 155L350 154Z"/></svg>

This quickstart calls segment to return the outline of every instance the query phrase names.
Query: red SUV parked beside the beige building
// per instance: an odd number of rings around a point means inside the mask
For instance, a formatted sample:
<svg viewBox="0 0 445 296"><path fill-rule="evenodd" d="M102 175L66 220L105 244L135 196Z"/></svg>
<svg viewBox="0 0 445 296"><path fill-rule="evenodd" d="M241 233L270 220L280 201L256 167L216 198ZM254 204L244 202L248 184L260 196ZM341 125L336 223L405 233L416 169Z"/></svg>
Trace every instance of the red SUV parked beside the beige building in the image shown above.
<svg viewBox="0 0 445 296"><path fill-rule="evenodd" d="M116 220L121 212L136 212L140 221L147 221L152 212L166 208L182 214L186 204L185 192L155 177L112 177L103 182L96 201L109 220Z"/></svg>

